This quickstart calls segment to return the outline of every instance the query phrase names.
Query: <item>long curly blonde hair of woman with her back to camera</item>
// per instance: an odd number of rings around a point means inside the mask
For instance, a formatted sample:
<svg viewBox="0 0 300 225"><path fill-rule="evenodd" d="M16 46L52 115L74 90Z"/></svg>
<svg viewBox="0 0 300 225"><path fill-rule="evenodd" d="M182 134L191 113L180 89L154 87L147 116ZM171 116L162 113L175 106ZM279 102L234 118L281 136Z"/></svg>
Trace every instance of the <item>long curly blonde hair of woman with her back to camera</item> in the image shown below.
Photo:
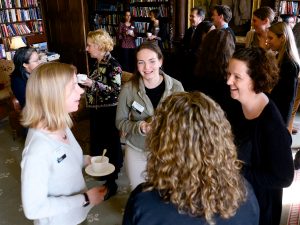
<svg viewBox="0 0 300 225"><path fill-rule="evenodd" d="M157 108L147 139L145 191L157 189L180 213L214 224L235 215L247 191L231 126L200 92L176 93Z"/></svg>

